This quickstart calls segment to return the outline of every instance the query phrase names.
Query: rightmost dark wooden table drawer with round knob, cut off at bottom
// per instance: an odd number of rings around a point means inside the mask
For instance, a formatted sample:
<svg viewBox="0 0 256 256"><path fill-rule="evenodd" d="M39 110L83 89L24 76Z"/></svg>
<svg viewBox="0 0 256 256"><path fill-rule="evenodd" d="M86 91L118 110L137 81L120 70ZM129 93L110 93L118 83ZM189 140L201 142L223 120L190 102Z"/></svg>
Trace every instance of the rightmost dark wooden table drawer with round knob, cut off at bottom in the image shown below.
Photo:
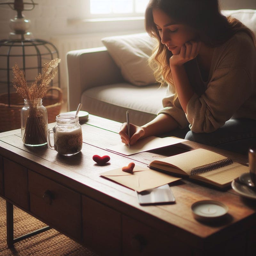
<svg viewBox="0 0 256 256"><path fill-rule="evenodd" d="M191 255L191 248L138 220L122 216L122 255Z"/></svg>

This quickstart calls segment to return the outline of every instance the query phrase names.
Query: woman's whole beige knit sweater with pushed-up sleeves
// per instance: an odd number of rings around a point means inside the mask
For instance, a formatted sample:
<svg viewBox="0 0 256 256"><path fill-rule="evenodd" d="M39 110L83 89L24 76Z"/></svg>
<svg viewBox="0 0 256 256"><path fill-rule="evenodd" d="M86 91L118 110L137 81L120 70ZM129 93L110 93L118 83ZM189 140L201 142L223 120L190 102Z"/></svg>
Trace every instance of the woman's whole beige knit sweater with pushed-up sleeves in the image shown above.
<svg viewBox="0 0 256 256"><path fill-rule="evenodd" d="M193 132L213 132L229 119L256 119L256 50L247 34L239 32L214 48L208 81L203 81L196 59L185 68L195 90L187 114L178 99L172 104L170 85L158 114L169 114L180 128L189 124Z"/></svg>

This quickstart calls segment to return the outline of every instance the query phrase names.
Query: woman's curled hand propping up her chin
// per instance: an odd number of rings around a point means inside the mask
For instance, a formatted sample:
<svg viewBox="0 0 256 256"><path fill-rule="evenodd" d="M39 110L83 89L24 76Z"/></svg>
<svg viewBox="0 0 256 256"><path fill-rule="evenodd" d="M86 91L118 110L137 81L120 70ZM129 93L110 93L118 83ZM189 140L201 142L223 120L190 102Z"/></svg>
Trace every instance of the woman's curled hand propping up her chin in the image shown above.
<svg viewBox="0 0 256 256"><path fill-rule="evenodd" d="M170 67L181 66L189 60L193 60L198 55L202 43L189 41L181 46L179 54L174 54L170 58Z"/></svg>

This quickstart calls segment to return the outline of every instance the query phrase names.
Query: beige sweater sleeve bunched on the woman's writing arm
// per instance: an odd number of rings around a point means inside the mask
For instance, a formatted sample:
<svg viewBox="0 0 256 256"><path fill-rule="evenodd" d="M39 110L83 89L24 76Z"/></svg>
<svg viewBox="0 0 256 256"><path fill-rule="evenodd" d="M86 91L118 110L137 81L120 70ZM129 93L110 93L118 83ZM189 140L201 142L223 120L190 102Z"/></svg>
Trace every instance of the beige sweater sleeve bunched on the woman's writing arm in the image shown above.
<svg viewBox="0 0 256 256"><path fill-rule="evenodd" d="M172 118L179 124L179 128L183 129L188 127L188 120L185 116L185 113L180 105L180 101L178 99L175 100L174 104L174 92L172 92L172 86L168 84L165 97L163 98L163 107L158 113L159 114L167 114L172 116Z"/></svg>

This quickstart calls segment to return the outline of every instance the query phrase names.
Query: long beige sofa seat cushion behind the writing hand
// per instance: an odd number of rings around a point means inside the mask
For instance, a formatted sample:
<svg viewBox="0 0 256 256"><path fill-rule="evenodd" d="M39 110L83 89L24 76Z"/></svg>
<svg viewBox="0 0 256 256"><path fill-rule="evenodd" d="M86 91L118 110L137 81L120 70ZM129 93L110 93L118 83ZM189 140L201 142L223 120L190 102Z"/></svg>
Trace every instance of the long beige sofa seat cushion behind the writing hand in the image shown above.
<svg viewBox="0 0 256 256"><path fill-rule="evenodd" d="M121 123L126 122L126 110L129 110L130 122L143 125L163 108L166 87L158 87L158 84L136 87L129 83L97 86L83 92L81 103L90 114Z"/></svg>

